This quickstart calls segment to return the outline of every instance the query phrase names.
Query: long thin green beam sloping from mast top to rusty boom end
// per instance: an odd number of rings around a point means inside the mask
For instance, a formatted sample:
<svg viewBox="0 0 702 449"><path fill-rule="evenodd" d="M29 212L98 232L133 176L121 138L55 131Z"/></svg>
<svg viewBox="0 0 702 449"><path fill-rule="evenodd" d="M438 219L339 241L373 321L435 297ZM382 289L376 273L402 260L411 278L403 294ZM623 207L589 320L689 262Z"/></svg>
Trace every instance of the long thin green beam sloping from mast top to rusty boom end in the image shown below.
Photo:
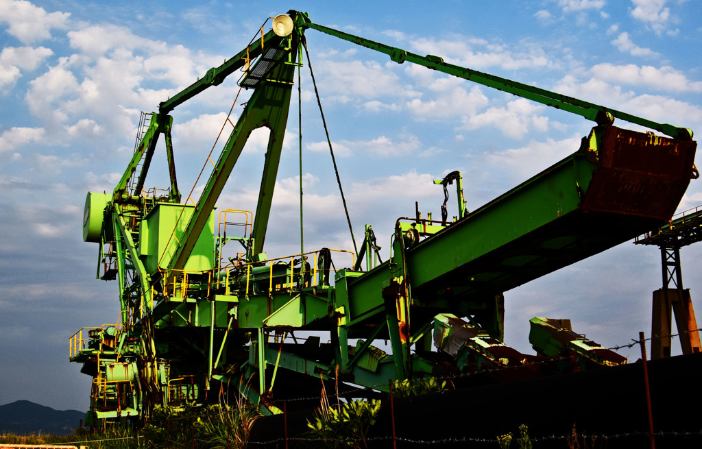
<svg viewBox="0 0 702 449"><path fill-rule="evenodd" d="M402 48L396 48L385 45L384 43L371 41L370 39L364 39L359 36L354 36L353 34L338 31L337 29L325 27L324 25L317 25L310 20L306 13L298 13L295 16L296 25L298 27L303 29L316 29L319 32L336 36L339 39L355 43L359 46L371 48L371 50L375 50L390 56L390 60L397 62L398 64L402 64L405 61L412 62L413 64L421 65L423 67L427 67L428 69L437 70L437 72L458 76L458 78L467 79L469 81L482 84L483 86L497 89L498 91L519 95L519 97L527 98L550 107L555 107L556 109L563 109L564 111L578 114L585 117L585 119L596 121L600 124L611 123L611 118L614 117L616 119L629 121L640 126L645 126L646 128L657 130L665 135L670 135L673 138L683 140L691 140L692 138L692 132L687 128L679 128L667 123L656 123L655 121L642 119L641 117L626 114L625 112L621 112L616 109L595 105L594 103L547 91L536 86L529 86L529 84L519 83L510 79L501 78L500 76L478 72L477 70L469 69L467 67L449 64L448 62L444 62L444 60L439 56L417 55L416 53L402 50Z"/></svg>

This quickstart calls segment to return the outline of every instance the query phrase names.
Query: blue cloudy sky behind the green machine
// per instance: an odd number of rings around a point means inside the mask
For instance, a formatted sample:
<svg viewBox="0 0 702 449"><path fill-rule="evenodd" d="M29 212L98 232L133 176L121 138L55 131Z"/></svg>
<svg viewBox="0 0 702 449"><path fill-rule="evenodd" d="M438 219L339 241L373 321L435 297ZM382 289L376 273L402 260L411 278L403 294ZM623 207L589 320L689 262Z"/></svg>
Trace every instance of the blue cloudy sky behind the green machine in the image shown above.
<svg viewBox="0 0 702 449"><path fill-rule="evenodd" d="M289 9L413 53L702 132L696 1L0 0L0 403L88 408L91 378L68 363L68 339L81 327L117 321L119 304L117 285L94 279L97 245L81 239L86 192L110 191L119 180L140 111L157 109ZM413 215L415 201L439 216L443 192L432 180L461 170L472 210L574 152L592 127L314 30L306 36L355 233L373 225L385 248L395 219ZM237 77L230 78L172 113L184 193L236 96ZM350 249L307 67L301 86L305 250ZM300 247L296 105L294 94L269 255ZM264 141L252 136L220 207L255 207ZM161 149L147 186L167 187L167 173ZM700 204L702 184L693 181L679 210ZM684 284L698 310L701 251L682 250ZM649 334L660 272L656 248L626 242L510 290L505 342L530 352L532 316L569 318L576 332L605 346Z"/></svg>

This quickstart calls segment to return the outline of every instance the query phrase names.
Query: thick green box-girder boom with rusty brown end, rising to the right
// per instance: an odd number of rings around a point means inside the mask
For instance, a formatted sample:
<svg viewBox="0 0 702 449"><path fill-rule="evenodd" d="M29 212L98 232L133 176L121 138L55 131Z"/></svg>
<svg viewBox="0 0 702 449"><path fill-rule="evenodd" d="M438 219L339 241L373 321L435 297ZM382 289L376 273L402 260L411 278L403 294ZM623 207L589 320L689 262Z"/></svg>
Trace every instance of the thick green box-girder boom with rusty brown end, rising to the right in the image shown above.
<svg viewBox="0 0 702 449"><path fill-rule="evenodd" d="M383 309L391 264L406 265L414 307L465 314L476 304L474 312L496 316L487 304L497 293L668 220L689 184L695 146L596 127L578 152L409 248L406 260L395 251L393 260L347 279L350 322Z"/></svg>

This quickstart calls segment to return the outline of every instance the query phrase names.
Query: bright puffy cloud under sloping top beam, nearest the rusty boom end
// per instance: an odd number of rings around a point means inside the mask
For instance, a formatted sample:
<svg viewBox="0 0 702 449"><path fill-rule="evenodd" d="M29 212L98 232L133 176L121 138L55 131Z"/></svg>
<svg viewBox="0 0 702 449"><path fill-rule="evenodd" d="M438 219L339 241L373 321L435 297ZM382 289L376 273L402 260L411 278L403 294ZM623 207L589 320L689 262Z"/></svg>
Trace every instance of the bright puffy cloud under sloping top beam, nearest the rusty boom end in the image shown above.
<svg viewBox="0 0 702 449"><path fill-rule="evenodd" d="M538 115L543 109L526 98L519 98L508 102L506 107L491 107L482 114L464 119L461 129L494 126L512 139L521 139L530 130L548 130L548 117Z"/></svg>

